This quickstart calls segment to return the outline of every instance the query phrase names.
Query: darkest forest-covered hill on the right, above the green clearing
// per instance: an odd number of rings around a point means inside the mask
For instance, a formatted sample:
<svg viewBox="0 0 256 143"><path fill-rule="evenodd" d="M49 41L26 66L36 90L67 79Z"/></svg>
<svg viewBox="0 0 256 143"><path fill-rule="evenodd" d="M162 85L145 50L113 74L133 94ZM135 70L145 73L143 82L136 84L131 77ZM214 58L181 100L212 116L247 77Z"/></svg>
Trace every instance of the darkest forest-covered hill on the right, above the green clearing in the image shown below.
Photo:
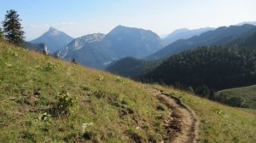
<svg viewBox="0 0 256 143"><path fill-rule="evenodd" d="M141 79L166 83L218 100L214 91L256 83L256 49L205 46L184 51L171 56ZM234 106L246 106L242 105L242 99L233 100L240 100Z"/></svg>

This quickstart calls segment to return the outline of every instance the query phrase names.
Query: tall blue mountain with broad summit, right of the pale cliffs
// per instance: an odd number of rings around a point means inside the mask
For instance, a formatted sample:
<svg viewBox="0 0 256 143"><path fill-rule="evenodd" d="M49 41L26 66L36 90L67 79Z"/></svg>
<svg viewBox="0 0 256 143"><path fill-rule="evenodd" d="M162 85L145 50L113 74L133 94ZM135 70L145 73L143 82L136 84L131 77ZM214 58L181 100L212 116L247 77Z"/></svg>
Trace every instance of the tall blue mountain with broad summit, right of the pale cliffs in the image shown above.
<svg viewBox="0 0 256 143"><path fill-rule="evenodd" d="M160 37L153 31L126 26L116 26L104 40L110 43L109 49L118 59L128 56L143 58L163 47Z"/></svg>

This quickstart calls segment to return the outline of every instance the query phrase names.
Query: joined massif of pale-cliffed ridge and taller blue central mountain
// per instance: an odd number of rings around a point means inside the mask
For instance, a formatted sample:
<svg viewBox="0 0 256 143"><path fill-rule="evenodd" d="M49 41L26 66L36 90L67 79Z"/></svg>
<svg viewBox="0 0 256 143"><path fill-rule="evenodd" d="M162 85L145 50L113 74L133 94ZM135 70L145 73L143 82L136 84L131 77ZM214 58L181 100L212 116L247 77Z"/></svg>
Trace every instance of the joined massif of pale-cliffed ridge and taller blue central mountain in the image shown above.
<svg viewBox="0 0 256 143"><path fill-rule="evenodd" d="M84 66L104 69L113 60L127 56L142 58L162 48L160 37L152 31L117 26L106 36L79 37L57 54L65 60L77 60Z"/></svg>

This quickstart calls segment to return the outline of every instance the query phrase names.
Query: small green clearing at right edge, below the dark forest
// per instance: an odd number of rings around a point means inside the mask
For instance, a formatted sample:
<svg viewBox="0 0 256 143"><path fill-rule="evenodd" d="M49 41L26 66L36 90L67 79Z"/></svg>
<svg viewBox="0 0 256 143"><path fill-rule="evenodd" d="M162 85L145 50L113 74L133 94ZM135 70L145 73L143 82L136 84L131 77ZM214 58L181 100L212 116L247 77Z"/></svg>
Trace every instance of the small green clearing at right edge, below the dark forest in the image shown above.
<svg viewBox="0 0 256 143"><path fill-rule="evenodd" d="M235 89L224 89L216 93L217 96L220 94L228 95L230 98L234 96L241 96L246 100L247 105L256 109L256 85Z"/></svg>

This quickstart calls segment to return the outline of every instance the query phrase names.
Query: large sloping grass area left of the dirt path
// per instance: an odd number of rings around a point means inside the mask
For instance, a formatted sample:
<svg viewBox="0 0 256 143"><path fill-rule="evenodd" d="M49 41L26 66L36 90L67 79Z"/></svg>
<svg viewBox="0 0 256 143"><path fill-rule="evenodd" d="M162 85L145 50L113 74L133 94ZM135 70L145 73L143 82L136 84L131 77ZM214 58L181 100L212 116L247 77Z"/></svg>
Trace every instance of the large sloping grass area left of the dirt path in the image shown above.
<svg viewBox="0 0 256 143"><path fill-rule="evenodd" d="M143 87L0 43L1 142L148 142L167 111ZM161 105L162 106L162 105Z"/></svg>

